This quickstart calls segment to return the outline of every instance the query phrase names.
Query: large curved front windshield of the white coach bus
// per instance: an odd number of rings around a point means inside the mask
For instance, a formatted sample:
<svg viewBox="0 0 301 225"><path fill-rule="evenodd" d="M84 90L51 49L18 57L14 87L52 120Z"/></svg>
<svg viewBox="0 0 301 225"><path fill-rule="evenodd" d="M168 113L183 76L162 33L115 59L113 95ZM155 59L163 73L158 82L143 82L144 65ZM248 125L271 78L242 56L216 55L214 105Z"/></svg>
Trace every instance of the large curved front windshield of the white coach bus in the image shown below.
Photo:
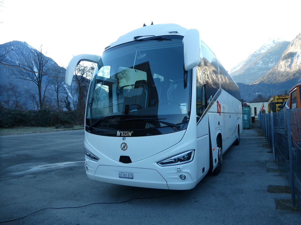
<svg viewBox="0 0 301 225"><path fill-rule="evenodd" d="M185 128L192 72L184 69L182 39L177 35L150 37L107 49L91 81L86 129L116 136L120 130L156 129L144 132L152 135Z"/></svg>

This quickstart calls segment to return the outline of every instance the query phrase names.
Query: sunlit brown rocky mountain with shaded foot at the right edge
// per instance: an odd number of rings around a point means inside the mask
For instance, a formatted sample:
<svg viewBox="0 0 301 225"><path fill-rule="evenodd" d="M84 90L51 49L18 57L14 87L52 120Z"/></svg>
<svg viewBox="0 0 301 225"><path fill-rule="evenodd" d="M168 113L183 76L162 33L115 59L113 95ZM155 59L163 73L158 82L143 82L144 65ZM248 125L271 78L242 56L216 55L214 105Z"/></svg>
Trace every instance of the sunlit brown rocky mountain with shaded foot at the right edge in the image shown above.
<svg viewBox="0 0 301 225"><path fill-rule="evenodd" d="M240 95L251 101L262 95L282 95L301 82L301 33L293 39L281 55L280 60L262 77L250 84L237 83Z"/></svg>

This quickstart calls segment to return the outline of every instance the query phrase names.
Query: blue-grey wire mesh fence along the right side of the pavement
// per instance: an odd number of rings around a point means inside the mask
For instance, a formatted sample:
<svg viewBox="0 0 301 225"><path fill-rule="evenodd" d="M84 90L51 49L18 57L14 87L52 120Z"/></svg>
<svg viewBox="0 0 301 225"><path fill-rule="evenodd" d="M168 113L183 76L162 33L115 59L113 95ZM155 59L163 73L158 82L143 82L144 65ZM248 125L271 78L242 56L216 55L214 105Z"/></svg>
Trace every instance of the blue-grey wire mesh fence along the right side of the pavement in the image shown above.
<svg viewBox="0 0 301 225"><path fill-rule="evenodd" d="M284 107L279 113L259 113L265 139L272 148L274 161L286 174L292 192L292 205L301 208L301 109Z"/></svg>

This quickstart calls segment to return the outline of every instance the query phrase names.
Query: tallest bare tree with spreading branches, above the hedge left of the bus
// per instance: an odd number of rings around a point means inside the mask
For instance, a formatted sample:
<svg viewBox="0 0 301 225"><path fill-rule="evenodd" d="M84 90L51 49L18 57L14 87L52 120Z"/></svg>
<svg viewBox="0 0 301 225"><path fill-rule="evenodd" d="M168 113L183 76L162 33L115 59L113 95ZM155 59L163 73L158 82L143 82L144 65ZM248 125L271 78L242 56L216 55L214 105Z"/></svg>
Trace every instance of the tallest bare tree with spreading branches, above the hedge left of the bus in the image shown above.
<svg viewBox="0 0 301 225"><path fill-rule="evenodd" d="M12 74L17 79L27 80L35 84L36 88L33 91L39 97L39 109L43 109L47 91L51 86L51 77L48 76L48 73L51 73L50 59L42 53L42 46L39 51L36 49L33 49L33 51L34 57L28 57L20 50L24 66L23 69L12 70Z"/></svg>

